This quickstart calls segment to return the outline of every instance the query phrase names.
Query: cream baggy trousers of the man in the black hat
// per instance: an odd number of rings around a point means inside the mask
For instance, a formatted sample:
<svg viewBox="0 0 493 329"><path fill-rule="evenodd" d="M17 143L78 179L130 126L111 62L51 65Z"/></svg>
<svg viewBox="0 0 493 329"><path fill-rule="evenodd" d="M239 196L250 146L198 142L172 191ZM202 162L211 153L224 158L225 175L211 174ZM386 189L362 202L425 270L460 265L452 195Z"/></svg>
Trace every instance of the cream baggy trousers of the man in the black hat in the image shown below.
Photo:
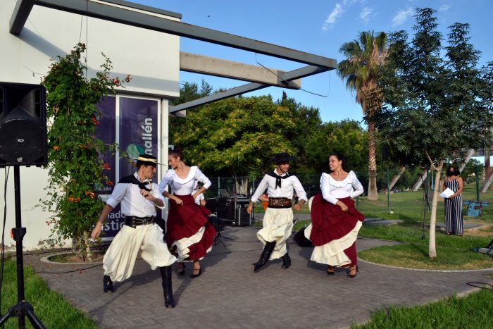
<svg viewBox="0 0 493 329"><path fill-rule="evenodd" d="M263 215L263 228L257 232L257 238L265 246L275 242L270 259L279 259L287 253L286 241L293 230L293 211L291 208L267 208Z"/></svg>

